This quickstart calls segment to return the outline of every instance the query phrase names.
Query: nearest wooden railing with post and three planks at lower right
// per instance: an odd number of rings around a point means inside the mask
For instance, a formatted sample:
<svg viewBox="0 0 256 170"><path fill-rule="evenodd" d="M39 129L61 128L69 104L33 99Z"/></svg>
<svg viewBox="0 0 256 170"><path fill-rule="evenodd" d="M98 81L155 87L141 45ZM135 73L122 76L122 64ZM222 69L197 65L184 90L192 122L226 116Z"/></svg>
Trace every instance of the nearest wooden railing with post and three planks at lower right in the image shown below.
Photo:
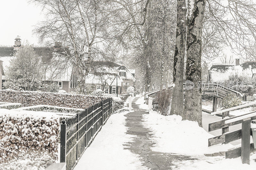
<svg viewBox="0 0 256 170"><path fill-rule="evenodd" d="M229 142L242 138L241 147L227 151L226 159L238 158L241 156L242 163L250 164L250 153L256 152L256 149L254 149L256 148L254 146L254 143L256 144L256 141L253 141L252 144L250 142L251 135L255 136L253 132L254 129L251 129L251 120L254 119L256 119L256 111L210 123L209 132L217 129L222 129L222 133L224 132L224 134L208 139L208 146L221 143L228 144ZM240 123L242 123L242 129L228 132L229 126Z"/></svg>

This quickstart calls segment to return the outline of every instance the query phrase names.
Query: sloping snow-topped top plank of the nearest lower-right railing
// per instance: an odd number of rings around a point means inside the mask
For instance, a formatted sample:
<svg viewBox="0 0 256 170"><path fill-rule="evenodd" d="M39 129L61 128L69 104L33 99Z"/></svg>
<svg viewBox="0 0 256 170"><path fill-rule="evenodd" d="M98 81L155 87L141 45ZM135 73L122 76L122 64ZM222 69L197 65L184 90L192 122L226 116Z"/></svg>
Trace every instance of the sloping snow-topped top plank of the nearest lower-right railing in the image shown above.
<svg viewBox="0 0 256 170"><path fill-rule="evenodd" d="M247 114L244 114L244 115L248 115L248 114L252 114L252 113L255 113L255 111L247 113ZM228 118L228 119L223 119L223 120L220 120L220 121L209 123L209 130L208 131L211 132L213 130L222 129L222 128L225 128L225 127L228 127L228 126L233 126L233 125L242 123L242 121L240 120L240 121L236 121L236 122L231 122L231 123L225 124L225 121L233 119L233 118L236 118L236 117L240 117L240 116L243 116L243 115L234 116L234 117L231 117L231 118ZM256 119L256 116L252 116L251 119L252 120Z"/></svg>

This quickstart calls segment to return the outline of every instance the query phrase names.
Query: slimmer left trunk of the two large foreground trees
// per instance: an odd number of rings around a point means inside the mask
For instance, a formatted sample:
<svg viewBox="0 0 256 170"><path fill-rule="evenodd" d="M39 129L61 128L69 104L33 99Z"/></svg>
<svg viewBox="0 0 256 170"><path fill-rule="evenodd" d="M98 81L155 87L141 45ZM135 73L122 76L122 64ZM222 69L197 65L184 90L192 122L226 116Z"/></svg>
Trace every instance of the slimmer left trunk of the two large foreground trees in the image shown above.
<svg viewBox="0 0 256 170"><path fill-rule="evenodd" d="M173 60L173 92L171 115L183 114L183 70L184 55L186 45L186 1L178 0L177 2L177 30L176 30L176 46Z"/></svg>

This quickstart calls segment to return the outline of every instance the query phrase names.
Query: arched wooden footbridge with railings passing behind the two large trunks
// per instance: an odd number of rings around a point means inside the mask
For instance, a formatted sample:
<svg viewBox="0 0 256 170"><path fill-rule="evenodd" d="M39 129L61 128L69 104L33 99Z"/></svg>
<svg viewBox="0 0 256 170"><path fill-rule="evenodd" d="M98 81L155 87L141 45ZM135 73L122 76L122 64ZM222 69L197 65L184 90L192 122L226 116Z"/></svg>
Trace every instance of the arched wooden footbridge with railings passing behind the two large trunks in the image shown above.
<svg viewBox="0 0 256 170"><path fill-rule="evenodd" d="M185 95L186 88L185 88L185 83L183 84L183 95ZM231 90L225 86L219 85L219 84L214 84L214 83L202 83L200 84L202 88L202 95L204 96L213 96L213 106L212 106L212 112L217 111L217 101L218 98L223 99L226 97L228 94L234 94L240 99L243 99L246 101L246 95L241 94L240 92L236 92L234 90ZM173 84L168 86L168 89L172 89ZM163 88L165 89L165 88ZM148 98L152 97L153 98L153 104L157 104L156 99L157 99L157 94L160 92L160 89L153 90L151 92L145 93L145 100L147 101L148 104ZM206 110L205 110L206 111ZM207 110L206 112L211 112Z"/></svg>

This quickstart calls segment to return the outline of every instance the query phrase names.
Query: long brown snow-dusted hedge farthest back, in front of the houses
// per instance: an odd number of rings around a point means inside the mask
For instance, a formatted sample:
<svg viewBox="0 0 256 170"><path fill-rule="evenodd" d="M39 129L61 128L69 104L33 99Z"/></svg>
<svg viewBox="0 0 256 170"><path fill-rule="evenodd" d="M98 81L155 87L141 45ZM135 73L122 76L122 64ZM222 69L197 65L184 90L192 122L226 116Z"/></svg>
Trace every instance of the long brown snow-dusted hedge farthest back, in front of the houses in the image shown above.
<svg viewBox="0 0 256 170"><path fill-rule="evenodd" d="M51 105L59 107L88 108L101 99L107 99L104 96L89 96L79 94L51 93L51 92L32 92L1 90L0 101L21 103L23 107L35 105Z"/></svg>

